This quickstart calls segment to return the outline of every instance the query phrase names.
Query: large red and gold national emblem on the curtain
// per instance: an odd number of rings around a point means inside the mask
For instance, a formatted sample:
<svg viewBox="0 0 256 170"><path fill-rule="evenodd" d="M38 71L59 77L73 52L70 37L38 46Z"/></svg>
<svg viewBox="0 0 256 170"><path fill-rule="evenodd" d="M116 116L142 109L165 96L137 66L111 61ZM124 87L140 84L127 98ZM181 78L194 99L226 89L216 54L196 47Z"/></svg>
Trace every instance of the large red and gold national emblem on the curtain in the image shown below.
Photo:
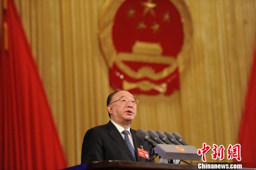
<svg viewBox="0 0 256 170"><path fill-rule="evenodd" d="M99 21L112 88L149 95L179 89L192 41L183 0L107 0Z"/></svg>

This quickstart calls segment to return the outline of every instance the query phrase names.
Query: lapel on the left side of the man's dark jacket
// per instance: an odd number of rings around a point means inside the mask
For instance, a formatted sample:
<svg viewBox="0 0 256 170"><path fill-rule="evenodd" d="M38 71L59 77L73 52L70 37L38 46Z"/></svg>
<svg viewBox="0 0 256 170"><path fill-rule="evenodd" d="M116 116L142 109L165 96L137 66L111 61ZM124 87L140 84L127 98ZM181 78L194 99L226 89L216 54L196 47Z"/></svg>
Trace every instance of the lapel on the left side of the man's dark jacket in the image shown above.
<svg viewBox="0 0 256 170"><path fill-rule="evenodd" d="M116 128L115 125L113 125L111 122L109 122L107 124L108 130L110 131L109 134L110 136L119 144L119 146L121 146L121 148L123 148L123 150L128 154L128 156L133 160L134 160L132 153L130 152L127 144L124 141L124 138L122 137L122 135L119 133L118 129ZM135 147L135 146L134 146ZM135 149L135 151L137 150L137 148ZM137 156L136 156L137 157Z"/></svg>

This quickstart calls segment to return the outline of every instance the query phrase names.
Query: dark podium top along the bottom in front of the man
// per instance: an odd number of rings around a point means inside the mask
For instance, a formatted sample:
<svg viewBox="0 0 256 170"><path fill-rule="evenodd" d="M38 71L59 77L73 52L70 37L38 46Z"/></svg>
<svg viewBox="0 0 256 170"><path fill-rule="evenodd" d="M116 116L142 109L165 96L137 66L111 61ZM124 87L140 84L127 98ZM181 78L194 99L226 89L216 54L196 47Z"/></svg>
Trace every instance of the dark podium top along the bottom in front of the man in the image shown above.
<svg viewBox="0 0 256 170"><path fill-rule="evenodd" d="M132 161L96 161L83 163L65 170L198 170L197 165L177 165Z"/></svg>

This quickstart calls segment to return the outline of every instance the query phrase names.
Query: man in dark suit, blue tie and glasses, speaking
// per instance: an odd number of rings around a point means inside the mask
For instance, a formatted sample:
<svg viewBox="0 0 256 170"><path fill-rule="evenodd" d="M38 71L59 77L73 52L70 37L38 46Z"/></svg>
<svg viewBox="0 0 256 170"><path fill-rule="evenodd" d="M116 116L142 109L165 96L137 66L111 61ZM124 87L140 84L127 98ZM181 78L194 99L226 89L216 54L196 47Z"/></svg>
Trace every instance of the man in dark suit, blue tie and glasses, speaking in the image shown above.
<svg viewBox="0 0 256 170"><path fill-rule="evenodd" d="M148 143L139 139L136 131L130 128L137 114L137 104L138 100L125 90L115 91L108 96L107 109L111 120L106 125L96 126L86 132L82 143L82 163L105 160L149 161L137 149L142 149L144 155L148 154Z"/></svg>

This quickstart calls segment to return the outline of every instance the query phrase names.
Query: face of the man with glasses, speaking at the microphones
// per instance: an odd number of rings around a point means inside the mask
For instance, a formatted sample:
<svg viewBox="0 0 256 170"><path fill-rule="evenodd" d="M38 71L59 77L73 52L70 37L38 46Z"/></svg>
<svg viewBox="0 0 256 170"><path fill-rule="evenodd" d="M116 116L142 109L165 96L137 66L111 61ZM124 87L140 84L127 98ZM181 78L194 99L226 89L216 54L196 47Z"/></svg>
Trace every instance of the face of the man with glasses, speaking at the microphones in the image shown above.
<svg viewBox="0 0 256 170"><path fill-rule="evenodd" d="M125 100L128 102L125 102ZM119 91L114 94L110 103L116 102L108 106L111 119L119 124L131 123L137 115L137 105L132 102L134 100L135 98L128 91Z"/></svg>

